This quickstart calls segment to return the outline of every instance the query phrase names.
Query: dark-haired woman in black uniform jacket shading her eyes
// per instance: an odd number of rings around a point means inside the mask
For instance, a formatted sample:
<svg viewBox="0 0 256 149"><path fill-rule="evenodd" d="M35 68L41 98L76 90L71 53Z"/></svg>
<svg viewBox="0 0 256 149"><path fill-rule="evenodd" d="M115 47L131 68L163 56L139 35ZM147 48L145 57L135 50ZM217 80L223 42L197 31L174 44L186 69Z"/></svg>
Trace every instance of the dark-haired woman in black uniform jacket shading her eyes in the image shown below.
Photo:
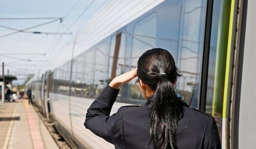
<svg viewBox="0 0 256 149"><path fill-rule="evenodd" d="M145 105L122 106L109 116L119 86L138 76ZM116 149L219 149L212 116L178 98L172 55L161 48L140 56L137 69L115 77L87 110L84 126Z"/></svg>

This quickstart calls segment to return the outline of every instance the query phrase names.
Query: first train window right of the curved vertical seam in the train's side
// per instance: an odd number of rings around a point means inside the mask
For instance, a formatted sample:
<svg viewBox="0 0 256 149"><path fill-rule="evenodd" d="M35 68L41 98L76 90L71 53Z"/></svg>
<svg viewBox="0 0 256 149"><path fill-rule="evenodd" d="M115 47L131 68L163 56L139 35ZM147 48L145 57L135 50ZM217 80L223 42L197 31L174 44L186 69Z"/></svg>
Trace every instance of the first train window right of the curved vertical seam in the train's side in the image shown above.
<svg viewBox="0 0 256 149"><path fill-rule="evenodd" d="M84 75L84 53L77 56L73 60L72 66L72 88L71 94L82 96L83 92L83 75Z"/></svg>

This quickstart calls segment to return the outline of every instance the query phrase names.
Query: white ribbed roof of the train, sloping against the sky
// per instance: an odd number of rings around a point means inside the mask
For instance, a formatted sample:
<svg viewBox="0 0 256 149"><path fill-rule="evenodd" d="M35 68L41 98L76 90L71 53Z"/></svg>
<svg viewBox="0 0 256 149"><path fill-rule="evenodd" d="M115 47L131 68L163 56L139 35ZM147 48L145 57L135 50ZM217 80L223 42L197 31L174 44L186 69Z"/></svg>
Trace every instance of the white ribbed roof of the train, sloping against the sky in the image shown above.
<svg viewBox="0 0 256 149"><path fill-rule="evenodd" d="M139 16L154 8L164 0L109 0L78 31L75 41L74 57L90 49L118 29L129 24ZM73 44L67 45L51 70L71 59Z"/></svg>

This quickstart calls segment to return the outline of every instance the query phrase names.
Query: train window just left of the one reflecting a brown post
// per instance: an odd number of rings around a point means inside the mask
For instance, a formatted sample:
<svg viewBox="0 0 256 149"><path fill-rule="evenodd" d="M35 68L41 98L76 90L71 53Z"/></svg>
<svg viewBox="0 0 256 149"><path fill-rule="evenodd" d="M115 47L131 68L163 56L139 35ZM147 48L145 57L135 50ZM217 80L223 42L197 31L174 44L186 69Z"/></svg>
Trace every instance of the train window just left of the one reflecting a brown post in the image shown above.
<svg viewBox="0 0 256 149"><path fill-rule="evenodd" d="M98 96L106 83L106 44L105 41L97 45L95 49L95 71L94 71L94 96Z"/></svg>

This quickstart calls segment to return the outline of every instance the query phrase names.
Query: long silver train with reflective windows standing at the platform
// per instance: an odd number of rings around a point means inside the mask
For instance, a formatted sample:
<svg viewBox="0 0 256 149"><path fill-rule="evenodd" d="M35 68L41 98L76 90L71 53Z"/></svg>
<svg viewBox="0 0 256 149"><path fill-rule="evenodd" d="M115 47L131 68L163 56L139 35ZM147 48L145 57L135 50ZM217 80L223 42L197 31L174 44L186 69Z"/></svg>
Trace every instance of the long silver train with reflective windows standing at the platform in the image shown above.
<svg viewBox="0 0 256 149"><path fill-rule="evenodd" d="M26 86L32 88L34 104L72 148L112 149L84 128L87 108L115 76L135 69L143 52L163 48L182 74L177 94L191 108L214 116L222 148L250 148L255 145L256 120L243 116L255 117L255 110L246 107L256 102L242 100L255 95L255 90L246 92L253 85L244 85L255 82L248 74L255 68L245 65L255 64L250 59L255 33L248 32L253 30L248 24L255 22L251 15L256 3L249 3L109 0L75 35L67 58L35 74ZM144 102L134 79L120 87L111 114L120 106ZM244 137L248 133L251 138Z"/></svg>

